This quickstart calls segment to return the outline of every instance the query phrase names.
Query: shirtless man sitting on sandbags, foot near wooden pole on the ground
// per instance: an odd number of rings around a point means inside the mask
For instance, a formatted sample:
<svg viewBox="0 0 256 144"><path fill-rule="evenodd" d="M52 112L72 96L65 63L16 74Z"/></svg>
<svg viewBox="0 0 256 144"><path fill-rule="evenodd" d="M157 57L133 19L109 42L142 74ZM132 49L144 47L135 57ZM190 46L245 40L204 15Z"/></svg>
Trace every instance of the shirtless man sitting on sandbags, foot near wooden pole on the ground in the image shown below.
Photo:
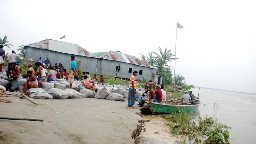
<svg viewBox="0 0 256 144"><path fill-rule="evenodd" d="M37 86L38 86L37 78L36 78L36 76L34 76L34 75L32 74L31 71L27 71L26 77L27 77L27 82L25 82L25 83L23 84L23 86L24 86L23 92L20 92L20 94L25 94L25 92L26 92L27 89L30 89L30 88L37 88Z"/></svg>

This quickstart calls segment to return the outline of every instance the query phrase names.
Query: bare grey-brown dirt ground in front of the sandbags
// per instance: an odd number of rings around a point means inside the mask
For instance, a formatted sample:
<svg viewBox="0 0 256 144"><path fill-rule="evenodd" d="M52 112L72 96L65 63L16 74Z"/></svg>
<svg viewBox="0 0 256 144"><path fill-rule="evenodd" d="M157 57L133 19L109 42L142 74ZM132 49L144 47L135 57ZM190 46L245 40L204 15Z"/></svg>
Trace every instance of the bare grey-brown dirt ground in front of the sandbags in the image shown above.
<svg viewBox="0 0 256 144"><path fill-rule="evenodd" d="M140 110L125 102L95 99L5 98L0 117L37 118L44 122L0 119L0 143L134 143L142 128ZM27 130L27 131L25 131ZM137 130L137 133L134 132ZM25 132L24 132L25 131Z"/></svg>

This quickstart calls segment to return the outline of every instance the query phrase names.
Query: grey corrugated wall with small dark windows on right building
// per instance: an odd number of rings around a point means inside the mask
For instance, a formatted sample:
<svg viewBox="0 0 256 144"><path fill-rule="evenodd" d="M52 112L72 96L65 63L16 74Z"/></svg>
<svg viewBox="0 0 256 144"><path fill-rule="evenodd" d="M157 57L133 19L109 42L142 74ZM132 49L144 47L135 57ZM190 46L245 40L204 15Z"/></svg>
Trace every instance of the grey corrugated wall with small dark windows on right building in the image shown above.
<svg viewBox="0 0 256 144"><path fill-rule="evenodd" d="M106 76L116 76L116 66L119 65L119 61L112 61L112 60L106 60L102 59L102 68L101 68L101 74ZM132 72L129 73L129 68L132 68ZM145 66L139 66L134 64L128 64L128 63L120 63L120 71L117 73L118 78L127 78L130 79L130 77L133 75L133 71L140 72L142 70L142 74L140 75L138 73L138 76L136 77L137 80L151 80L152 79L152 73L155 73L155 69L145 67Z"/></svg>

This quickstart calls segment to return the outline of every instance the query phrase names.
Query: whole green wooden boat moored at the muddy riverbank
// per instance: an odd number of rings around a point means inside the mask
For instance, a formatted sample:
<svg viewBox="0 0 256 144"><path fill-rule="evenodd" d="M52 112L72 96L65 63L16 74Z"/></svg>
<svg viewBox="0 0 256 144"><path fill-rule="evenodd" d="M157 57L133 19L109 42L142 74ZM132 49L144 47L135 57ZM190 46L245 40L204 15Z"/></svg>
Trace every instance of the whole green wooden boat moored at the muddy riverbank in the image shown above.
<svg viewBox="0 0 256 144"><path fill-rule="evenodd" d="M167 100L166 103L156 103L152 102L150 104L149 102L146 102L149 109L153 114L169 114L172 112L180 113L180 112L193 112L196 111L200 105L199 100L194 100L194 104L183 104L181 103L181 99L174 99L173 100Z"/></svg>

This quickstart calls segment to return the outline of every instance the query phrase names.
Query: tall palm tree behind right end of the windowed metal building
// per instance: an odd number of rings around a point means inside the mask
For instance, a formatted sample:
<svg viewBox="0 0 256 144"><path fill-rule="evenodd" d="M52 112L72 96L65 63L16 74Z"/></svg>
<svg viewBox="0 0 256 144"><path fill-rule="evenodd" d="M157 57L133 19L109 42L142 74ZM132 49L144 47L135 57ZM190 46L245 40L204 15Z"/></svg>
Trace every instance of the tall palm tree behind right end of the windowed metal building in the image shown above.
<svg viewBox="0 0 256 144"><path fill-rule="evenodd" d="M170 66L168 66L167 62L171 62L171 60L174 60L175 58L173 58L175 55L173 55L171 52L171 50L167 51L167 47L165 48L165 51L163 52L161 47L159 47L159 52L160 55L156 52L152 52L153 54L155 54L156 56L152 57L156 59L156 63L158 65L158 69L157 72L162 73L165 72L167 70L169 70ZM177 59L177 58L176 58Z"/></svg>

